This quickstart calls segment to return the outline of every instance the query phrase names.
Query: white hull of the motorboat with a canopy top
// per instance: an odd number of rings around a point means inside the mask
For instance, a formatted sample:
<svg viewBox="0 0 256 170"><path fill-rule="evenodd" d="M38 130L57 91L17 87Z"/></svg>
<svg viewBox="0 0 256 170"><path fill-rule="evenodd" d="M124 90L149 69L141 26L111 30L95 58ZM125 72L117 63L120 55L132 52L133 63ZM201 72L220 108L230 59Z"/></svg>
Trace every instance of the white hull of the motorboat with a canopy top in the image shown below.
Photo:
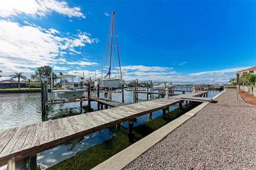
<svg viewBox="0 0 256 170"><path fill-rule="evenodd" d="M54 96L57 99L62 100L69 100L74 101L80 96L83 95L83 93L86 91L86 89L76 89L76 90L52 90L54 93Z"/></svg>

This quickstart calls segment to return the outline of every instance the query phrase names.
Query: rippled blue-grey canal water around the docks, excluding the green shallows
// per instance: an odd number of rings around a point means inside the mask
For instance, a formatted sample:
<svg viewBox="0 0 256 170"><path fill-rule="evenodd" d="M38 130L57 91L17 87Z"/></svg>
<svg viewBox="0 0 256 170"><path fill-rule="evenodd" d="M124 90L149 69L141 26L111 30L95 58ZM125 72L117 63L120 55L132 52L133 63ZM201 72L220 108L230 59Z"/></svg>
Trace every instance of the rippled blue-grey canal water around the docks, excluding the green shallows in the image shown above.
<svg viewBox="0 0 256 170"><path fill-rule="evenodd" d="M220 91L209 91L208 97L213 97ZM182 92L176 94L182 94ZM96 93L92 93L96 96ZM100 97L103 97L103 93L100 93ZM51 98L51 94L48 94L48 98ZM138 102L146 101L146 94L138 94ZM154 95L154 98L158 98L158 95ZM112 93L112 100L122 102L121 93ZM150 98L149 98L150 100ZM133 103L133 92L124 90L124 102L127 104ZM91 102L92 109L97 109L97 102ZM174 110L178 105L170 107L170 110ZM57 104L49 106L47 109L46 117L42 117L41 113L41 93L4 93L0 94L0 130L8 129L11 127L18 127L22 125L28 125L32 123L38 123L42 121L50 121L52 119L58 119L62 117L68 117L77 114L88 113L88 102L83 102L82 107L80 107L80 102L67 103L67 104ZM152 116L149 114L142 115L138 117L137 122L134 123L134 127L140 128L141 125L152 121L158 117L161 117L162 111L155 111ZM121 123L121 129L117 131L116 129L103 129L96 133L85 136L84 138L76 139L65 145L60 145L53 149L40 152L37 155L36 163L40 165L40 168L46 169L59 162L67 160L70 157L75 157L77 153L81 151L88 150L95 145L100 146L100 144L106 143L107 141L118 141L120 138L126 140L127 138L127 128L128 122ZM116 137L118 133L118 137ZM138 132L137 132L138 133ZM122 135L120 135L122 134ZM142 136L143 137L143 136ZM112 139L112 140L110 140ZM114 141L113 141L114 140ZM123 141L119 141L122 143ZM127 144L123 144L125 147ZM106 147L106 146L105 146ZM127 146L126 146L127 147ZM121 149L122 150L122 149ZM96 151L94 151L96 152ZM83 156L83 155L82 155ZM80 156L80 157L82 157ZM64 161L65 162L65 161Z"/></svg>

